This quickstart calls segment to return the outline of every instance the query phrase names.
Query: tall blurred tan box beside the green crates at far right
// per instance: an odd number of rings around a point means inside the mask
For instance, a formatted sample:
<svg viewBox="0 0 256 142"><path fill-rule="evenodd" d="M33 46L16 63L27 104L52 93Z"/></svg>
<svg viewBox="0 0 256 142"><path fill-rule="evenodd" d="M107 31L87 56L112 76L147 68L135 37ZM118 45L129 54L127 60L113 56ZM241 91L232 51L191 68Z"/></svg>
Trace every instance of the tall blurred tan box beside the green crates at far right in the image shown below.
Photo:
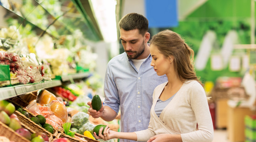
<svg viewBox="0 0 256 142"><path fill-rule="evenodd" d="M228 140L231 142L245 141L245 123L246 115L252 115L253 111L250 108L230 107L228 106L227 113L227 134Z"/></svg>

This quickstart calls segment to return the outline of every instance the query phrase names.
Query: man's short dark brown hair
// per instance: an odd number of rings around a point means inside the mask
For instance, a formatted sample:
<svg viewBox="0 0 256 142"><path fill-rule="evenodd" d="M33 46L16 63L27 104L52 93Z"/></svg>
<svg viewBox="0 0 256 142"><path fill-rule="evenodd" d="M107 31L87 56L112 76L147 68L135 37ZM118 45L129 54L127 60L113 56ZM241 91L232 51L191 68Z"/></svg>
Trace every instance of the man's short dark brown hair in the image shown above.
<svg viewBox="0 0 256 142"><path fill-rule="evenodd" d="M138 13L126 14L118 23L119 29L122 28L125 31L133 29L139 29L139 33L144 35L148 32L148 19Z"/></svg>

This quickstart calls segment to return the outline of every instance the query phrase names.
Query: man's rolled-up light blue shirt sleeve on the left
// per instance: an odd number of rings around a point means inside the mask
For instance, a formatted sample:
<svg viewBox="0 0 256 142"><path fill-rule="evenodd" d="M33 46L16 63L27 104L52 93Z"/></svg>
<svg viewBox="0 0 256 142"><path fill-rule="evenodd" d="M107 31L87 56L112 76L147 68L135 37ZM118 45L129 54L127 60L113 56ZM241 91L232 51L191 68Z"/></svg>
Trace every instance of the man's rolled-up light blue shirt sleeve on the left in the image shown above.
<svg viewBox="0 0 256 142"><path fill-rule="evenodd" d="M106 74L105 74L105 81L104 81L104 94L105 94L104 106L109 106L118 114L120 99L119 99L118 90L114 81L114 74L111 71L110 67L111 65L108 63Z"/></svg>

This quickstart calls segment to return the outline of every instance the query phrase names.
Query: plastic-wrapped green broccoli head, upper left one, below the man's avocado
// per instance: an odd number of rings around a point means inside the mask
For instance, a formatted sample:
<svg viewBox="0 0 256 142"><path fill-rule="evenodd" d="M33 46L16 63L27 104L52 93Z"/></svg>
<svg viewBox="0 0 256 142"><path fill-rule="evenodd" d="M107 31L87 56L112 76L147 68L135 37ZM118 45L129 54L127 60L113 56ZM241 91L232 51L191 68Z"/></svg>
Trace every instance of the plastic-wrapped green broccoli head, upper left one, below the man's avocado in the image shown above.
<svg viewBox="0 0 256 142"><path fill-rule="evenodd" d="M82 127L86 122L88 122L89 115L83 112L78 112L77 114L72 116L72 123L71 127L79 129Z"/></svg>

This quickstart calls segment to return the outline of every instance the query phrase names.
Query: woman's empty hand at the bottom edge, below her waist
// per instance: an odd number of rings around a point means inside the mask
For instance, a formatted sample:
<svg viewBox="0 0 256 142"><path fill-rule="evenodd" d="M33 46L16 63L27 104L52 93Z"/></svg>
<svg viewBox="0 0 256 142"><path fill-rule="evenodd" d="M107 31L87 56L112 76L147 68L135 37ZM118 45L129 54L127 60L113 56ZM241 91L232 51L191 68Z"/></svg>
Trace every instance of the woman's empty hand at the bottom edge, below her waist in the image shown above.
<svg viewBox="0 0 256 142"><path fill-rule="evenodd" d="M158 134L147 142L182 142L182 139L180 134Z"/></svg>

